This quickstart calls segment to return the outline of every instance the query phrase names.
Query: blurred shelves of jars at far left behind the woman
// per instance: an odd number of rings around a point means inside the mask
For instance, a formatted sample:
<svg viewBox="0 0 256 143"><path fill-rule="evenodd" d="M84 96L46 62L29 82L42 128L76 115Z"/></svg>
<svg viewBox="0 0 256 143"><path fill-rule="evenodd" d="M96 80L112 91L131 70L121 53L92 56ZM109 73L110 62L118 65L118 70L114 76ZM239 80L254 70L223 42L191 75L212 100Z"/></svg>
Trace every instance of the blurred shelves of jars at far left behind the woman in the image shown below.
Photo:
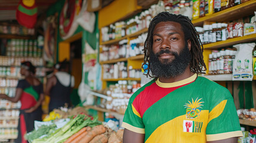
<svg viewBox="0 0 256 143"><path fill-rule="evenodd" d="M26 32L26 30L24 30ZM1 33L1 24L0 24ZM0 53L0 93L14 97L20 74L20 63L30 61L36 67L35 76L41 80L44 73L42 48L33 35L21 33L1 33L1 42L6 43ZM16 139L20 102L0 100L0 139Z"/></svg>

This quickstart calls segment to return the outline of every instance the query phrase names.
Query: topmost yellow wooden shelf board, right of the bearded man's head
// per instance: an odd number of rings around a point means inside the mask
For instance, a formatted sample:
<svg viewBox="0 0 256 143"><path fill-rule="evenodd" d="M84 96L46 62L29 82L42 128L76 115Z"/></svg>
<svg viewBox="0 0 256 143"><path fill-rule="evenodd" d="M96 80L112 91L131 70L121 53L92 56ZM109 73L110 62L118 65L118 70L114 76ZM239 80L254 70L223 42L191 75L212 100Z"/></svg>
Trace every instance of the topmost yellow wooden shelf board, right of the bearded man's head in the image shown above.
<svg viewBox="0 0 256 143"><path fill-rule="evenodd" d="M231 20L237 20L238 18L254 14L255 7L256 0L247 1L243 4L236 5L235 7L227 8L226 10L192 20L192 23L194 26L203 26L204 21L229 22Z"/></svg>

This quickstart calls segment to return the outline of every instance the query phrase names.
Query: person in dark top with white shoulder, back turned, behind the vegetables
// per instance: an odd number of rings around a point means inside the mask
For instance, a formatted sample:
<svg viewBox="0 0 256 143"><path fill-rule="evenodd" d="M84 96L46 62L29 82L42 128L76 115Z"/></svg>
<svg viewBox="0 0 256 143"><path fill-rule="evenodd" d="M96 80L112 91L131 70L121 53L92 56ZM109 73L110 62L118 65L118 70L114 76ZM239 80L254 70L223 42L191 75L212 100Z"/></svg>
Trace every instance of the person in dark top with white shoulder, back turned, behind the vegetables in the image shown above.
<svg viewBox="0 0 256 143"><path fill-rule="evenodd" d="M45 89L45 94L50 96L49 112L55 108L63 107L65 104L70 106L70 94L74 86L74 77L70 77L68 73L68 61L64 60L60 64L57 64L56 69L58 71L48 78Z"/></svg>

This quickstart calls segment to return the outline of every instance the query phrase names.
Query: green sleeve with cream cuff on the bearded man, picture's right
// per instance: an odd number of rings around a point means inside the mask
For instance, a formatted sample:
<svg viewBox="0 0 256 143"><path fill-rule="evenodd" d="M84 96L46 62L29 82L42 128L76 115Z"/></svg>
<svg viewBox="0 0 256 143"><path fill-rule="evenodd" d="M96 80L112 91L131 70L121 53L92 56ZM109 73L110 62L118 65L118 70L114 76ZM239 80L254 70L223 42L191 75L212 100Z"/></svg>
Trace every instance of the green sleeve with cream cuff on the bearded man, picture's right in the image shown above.
<svg viewBox="0 0 256 143"><path fill-rule="evenodd" d="M236 107L232 96L219 102L209 112L206 128L206 140L217 141L221 139L243 136Z"/></svg>

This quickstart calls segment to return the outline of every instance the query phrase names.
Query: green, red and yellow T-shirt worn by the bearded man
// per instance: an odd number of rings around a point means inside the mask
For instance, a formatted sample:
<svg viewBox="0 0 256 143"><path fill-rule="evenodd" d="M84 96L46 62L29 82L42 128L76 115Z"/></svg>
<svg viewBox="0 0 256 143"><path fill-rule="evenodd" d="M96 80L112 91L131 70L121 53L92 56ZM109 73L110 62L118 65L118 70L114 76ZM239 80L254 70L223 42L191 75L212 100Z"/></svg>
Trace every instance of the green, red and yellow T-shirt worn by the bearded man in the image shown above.
<svg viewBox="0 0 256 143"><path fill-rule="evenodd" d="M197 74L174 83L151 82L129 100L122 127L145 142L206 142L243 136L233 97Z"/></svg>

